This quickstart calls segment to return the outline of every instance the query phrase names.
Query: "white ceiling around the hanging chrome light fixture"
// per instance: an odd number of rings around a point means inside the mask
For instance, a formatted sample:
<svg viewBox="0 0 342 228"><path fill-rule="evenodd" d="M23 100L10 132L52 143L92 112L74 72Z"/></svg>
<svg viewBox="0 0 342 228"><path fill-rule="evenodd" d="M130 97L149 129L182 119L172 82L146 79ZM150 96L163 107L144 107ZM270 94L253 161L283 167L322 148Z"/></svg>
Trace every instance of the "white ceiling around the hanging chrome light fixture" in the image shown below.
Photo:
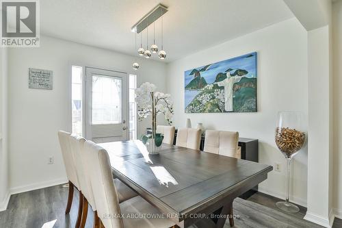
<svg viewBox="0 0 342 228"><path fill-rule="evenodd" d="M135 55L131 26L158 3L169 10L163 18L166 62L293 17L282 0L43 0L40 31ZM156 29L161 46L159 21ZM148 34L150 43L153 26ZM143 42L145 48L145 32Z"/></svg>

